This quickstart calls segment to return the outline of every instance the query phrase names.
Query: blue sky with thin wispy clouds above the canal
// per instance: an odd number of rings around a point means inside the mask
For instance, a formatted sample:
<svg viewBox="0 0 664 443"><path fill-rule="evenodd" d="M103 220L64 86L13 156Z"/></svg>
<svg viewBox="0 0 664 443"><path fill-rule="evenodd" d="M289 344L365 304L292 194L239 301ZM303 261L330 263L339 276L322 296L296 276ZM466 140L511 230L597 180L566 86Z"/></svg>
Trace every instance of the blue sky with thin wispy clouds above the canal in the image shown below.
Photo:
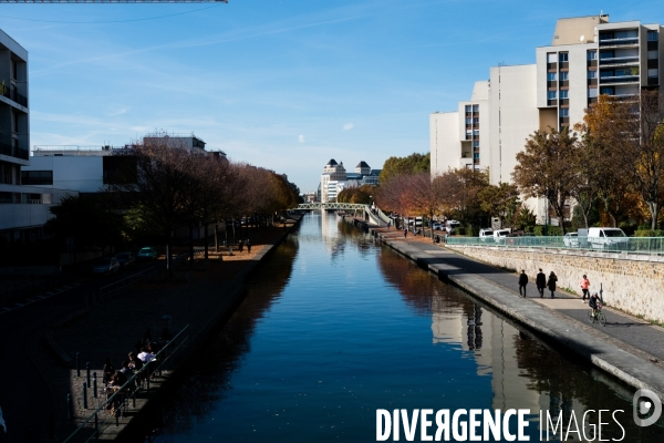
<svg viewBox="0 0 664 443"><path fill-rule="evenodd" d="M194 132L304 192L330 158L428 152L429 113L602 10L664 22L661 0L230 0L2 4L0 28L30 54L33 146Z"/></svg>

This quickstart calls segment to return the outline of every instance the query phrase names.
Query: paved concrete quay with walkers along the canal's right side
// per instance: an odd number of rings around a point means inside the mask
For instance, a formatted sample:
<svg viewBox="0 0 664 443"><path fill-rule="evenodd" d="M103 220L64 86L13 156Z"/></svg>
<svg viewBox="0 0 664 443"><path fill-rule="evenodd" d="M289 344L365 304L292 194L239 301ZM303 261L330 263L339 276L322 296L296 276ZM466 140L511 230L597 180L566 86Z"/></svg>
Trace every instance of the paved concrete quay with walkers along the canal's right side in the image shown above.
<svg viewBox="0 0 664 443"><path fill-rule="evenodd" d="M517 278L513 274L480 264L442 246L409 241L395 230L374 228L371 233L394 250L417 262L419 267L438 276L440 280L465 289L544 340L569 349L629 385L651 390L664 400L664 365L661 357L663 353L660 352L660 343L664 342L664 330L661 328L651 328L647 323L637 323L629 319L630 323L622 326L643 328L631 328L629 334L621 332L621 337L626 340L623 341L603 332L596 323L578 321L573 316L566 313L566 309L557 309L556 305L570 305L573 301L577 303L574 306L578 306L575 310L585 313L588 308L575 297L544 300L538 296L537 299L523 299L516 291ZM506 281L515 289L507 287ZM531 291L535 292L532 286ZM625 319L613 312L609 316ZM616 323L620 321L624 320Z"/></svg>

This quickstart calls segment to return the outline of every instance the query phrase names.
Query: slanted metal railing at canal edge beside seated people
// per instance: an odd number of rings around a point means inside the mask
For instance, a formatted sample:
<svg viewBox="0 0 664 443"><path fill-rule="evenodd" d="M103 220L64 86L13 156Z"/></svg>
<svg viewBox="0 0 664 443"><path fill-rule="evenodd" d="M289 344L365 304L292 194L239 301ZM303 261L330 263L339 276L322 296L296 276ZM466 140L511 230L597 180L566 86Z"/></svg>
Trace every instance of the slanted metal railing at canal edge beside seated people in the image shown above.
<svg viewBox="0 0 664 443"><path fill-rule="evenodd" d="M127 389L131 389L132 387L136 387L136 379L138 378L138 375L142 375L141 378L143 378L143 374L145 375L145 380L147 380L147 392L149 392L149 378L152 377L153 373L157 372L158 370L160 370L160 368L164 365L164 363L166 363L175 353L178 349L180 349L183 347L183 344L188 340L188 337L185 337L184 340L175 348L173 349L173 352L170 352L167 357L165 357L164 359L159 359L159 356L164 356L166 353L166 351L173 346L173 343L180 337L183 336L187 330L189 329L189 324L185 326L173 339L170 339L168 341L167 344L165 344L156 354L155 354L155 359L153 361L158 361L159 364L157 367L154 367L153 371L149 372L148 369L151 369L151 364L149 363L145 363L143 365L143 368L141 368L141 370L136 371L134 373L134 375L132 375L127 382L125 384L123 384L122 387L120 387L120 389L113 393L113 395L111 395L110 398L106 399L105 402L103 402L100 406L97 406L97 409L95 409L90 416L87 416L87 419L81 423L75 430L74 432L72 432L64 441L63 443L68 443L70 441L72 441L72 439L79 433L81 432L81 430L86 429L89 424L91 424L91 421L94 420L94 432L91 436L87 437L87 440L85 440L85 442L89 442L91 439L93 439L94 436L96 436L100 433L100 423L98 423L98 414L100 412L103 412L106 410L106 406L108 404L112 404L115 402L116 395L124 395L127 391ZM134 388L132 390L132 394L128 395L128 398L134 398L134 400L136 399L136 392L138 391L138 388ZM126 400L125 399L121 404L120 408L122 408L123 405L126 408ZM118 425L118 420L117 420L117 415L116 416L116 426ZM103 423L101 423L101 425L106 424L108 421L111 420L111 418L108 416ZM92 425L92 424L91 424Z"/></svg>

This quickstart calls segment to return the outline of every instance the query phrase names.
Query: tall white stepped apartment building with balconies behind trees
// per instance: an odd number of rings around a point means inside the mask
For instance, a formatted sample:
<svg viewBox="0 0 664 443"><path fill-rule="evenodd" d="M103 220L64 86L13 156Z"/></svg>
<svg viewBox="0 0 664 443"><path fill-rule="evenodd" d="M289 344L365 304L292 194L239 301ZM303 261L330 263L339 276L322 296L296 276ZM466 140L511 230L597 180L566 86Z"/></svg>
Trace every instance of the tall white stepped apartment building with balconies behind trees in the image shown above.
<svg viewBox="0 0 664 443"><path fill-rule="evenodd" d="M491 184L510 182L516 155L537 130L571 127L600 94L630 100L662 84L660 24L611 23L609 16L559 19L536 63L489 69L470 101L429 116L432 174L488 168ZM543 202L528 204L543 217Z"/></svg>

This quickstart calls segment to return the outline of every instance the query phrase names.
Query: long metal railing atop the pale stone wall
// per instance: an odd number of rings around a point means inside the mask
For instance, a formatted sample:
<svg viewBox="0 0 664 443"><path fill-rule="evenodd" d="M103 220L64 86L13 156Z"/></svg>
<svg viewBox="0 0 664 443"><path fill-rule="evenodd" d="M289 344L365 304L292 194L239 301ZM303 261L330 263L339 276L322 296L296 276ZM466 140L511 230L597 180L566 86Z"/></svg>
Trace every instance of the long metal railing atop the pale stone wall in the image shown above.
<svg viewBox="0 0 664 443"><path fill-rule="evenodd" d="M664 237L449 237L447 244L664 256Z"/></svg>

